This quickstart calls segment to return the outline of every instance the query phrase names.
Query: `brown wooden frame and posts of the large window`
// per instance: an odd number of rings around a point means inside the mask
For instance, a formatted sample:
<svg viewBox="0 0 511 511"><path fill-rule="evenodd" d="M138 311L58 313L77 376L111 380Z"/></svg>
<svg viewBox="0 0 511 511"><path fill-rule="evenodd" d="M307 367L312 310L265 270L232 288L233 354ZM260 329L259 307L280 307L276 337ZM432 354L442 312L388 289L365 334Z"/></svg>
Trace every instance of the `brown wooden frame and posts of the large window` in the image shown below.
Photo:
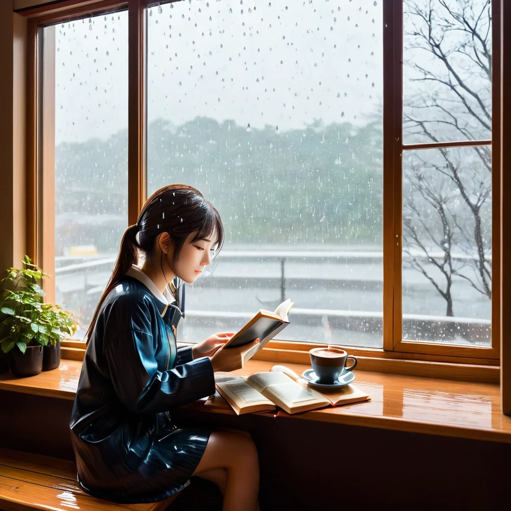
<svg viewBox="0 0 511 511"><path fill-rule="evenodd" d="M176 0L173 0L176 1ZM161 2L164 3L164 2ZM145 34L144 15L147 6L157 4L149 0L65 0L51 5L44 5L19 11L28 18L28 108L27 108L27 253L37 263L41 260L45 270L54 264L50 262L52 247L48 247L49 238L38 232L41 225L41 211L51 211L50 203L44 204L47 197L38 195L41 187L41 175L51 171L51 143L47 140L38 141L38 94L36 86L39 76L36 58L36 37L38 27L56 22L64 22L87 15L110 13L117 10L128 10L128 223L136 222L138 212L146 198L146 98L145 98ZM492 1L493 17L493 59L499 62L501 22L500 2ZM501 21L501 20L500 20ZM492 85L492 141L447 142L443 144L413 144L404 146L403 132L403 0L383 0L383 349L368 349L357 346L344 346L345 349L364 359L381 362L381 367L402 361L407 363L429 363L446 366L445 374L452 372L455 365L485 367L488 374L495 375L500 364L500 313L501 286L500 265L503 259L501 250L501 217L505 216L506 204L500 203L501 172L500 172L500 66L493 65ZM135 127L135 129L133 129ZM42 130L44 133L45 130ZM492 346L473 347L432 342L408 341L402 339L402 152L403 150L424 149L432 147L460 147L468 145L489 144L493 146L493 263L492 263ZM45 159L36 161L41 144L44 147ZM54 148L53 148L54 150ZM42 169L41 169L42 167ZM42 186L51 182L42 181ZM46 188L48 189L48 188ZM38 213L39 212L39 213ZM500 213L500 214L499 214ZM44 222L42 215L42 222ZM45 232L51 229L51 222L42 224ZM53 224L54 225L54 224ZM53 242L53 239L52 239ZM398 245L399 243L399 245ZM497 258L497 259L495 259ZM47 266L49 265L49 266ZM51 295L51 289L48 290ZM504 303L504 300L502 300ZM274 356L278 360L294 361L297 357L304 358L310 347L318 343L273 340L268 343L267 353L263 357ZM264 350L263 350L264 351ZM449 366L449 367L447 367ZM371 367L375 367L372 365ZM469 378L470 379L470 378ZM495 379L495 376L492 376ZM492 381L493 381L492 380ZM511 407L511 404L510 404Z"/></svg>

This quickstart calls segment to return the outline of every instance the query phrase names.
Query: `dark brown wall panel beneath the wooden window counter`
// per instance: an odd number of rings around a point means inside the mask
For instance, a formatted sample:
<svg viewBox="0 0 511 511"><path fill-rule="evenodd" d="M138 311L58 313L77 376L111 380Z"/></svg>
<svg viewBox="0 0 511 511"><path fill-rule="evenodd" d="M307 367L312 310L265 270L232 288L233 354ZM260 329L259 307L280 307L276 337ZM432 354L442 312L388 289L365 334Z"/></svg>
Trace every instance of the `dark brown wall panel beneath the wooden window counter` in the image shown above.
<svg viewBox="0 0 511 511"><path fill-rule="evenodd" d="M73 460L72 406L73 401L0 391L0 409L9 410L0 421L0 447ZM180 409L175 417L179 425L251 434L265 511L503 509L508 500L511 444L258 414Z"/></svg>

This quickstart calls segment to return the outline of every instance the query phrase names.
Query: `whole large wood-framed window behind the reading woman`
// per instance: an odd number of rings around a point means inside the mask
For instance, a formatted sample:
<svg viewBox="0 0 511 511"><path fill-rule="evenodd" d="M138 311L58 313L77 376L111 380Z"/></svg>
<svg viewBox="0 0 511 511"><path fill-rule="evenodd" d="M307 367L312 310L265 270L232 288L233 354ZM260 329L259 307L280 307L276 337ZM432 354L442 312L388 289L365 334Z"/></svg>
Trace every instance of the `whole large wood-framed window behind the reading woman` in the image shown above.
<svg viewBox="0 0 511 511"><path fill-rule="evenodd" d="M276 347L498 363L490 0L105 0L34 19L39 190L55 178L36 255L55 233L56 298L82 328L126 223L185 182L226 243L179 340L291 298Z"/></svg>

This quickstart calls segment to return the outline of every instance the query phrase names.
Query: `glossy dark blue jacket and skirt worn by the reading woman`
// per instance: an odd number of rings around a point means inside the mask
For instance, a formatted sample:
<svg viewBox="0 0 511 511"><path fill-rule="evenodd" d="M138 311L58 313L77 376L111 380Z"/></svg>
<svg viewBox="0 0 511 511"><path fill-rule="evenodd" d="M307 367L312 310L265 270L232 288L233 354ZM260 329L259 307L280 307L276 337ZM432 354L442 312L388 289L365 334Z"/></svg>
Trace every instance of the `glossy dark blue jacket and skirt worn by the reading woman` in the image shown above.
<svg viewBox="0 0 511 511"><path fill-rule="evenodd" d="M172 409L215 393L209 358L176 349L184 311L125 276L106 297L87 346L71 420L78 479L123 503L166 499L188 484L210 430L178 428Z"/></svg>

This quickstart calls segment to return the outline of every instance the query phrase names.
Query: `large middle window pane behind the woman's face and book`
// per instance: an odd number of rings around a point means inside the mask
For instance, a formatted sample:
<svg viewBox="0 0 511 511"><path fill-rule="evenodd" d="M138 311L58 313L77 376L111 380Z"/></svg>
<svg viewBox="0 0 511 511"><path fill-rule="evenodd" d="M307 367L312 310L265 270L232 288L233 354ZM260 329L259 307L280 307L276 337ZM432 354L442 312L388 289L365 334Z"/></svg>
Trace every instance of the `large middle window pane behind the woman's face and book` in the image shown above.
<svg viewBox="0 0 511 511"><path fill-rule="evenodd" d="M224 248L178 337L295 302L280 338L382 346L382 2L147 11L148 193L196 187Z"/></svg>

